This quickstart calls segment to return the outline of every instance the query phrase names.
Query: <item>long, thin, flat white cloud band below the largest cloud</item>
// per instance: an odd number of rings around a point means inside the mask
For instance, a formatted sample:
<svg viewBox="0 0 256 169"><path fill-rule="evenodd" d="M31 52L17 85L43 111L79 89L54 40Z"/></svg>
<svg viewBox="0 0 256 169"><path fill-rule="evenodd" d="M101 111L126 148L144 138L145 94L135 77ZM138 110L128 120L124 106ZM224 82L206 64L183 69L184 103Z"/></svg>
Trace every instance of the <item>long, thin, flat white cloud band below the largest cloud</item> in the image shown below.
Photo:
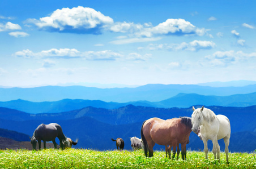
<svg viewBox="0 0 256 169"><path fill-rule="evenodd" d="M120 54L118 52L113 52L111 50L105 51L86 51L80 52L76 49L69 49L69 48L61 48L56 49L52 48L47 51L41 52L32 52L30 50L23 50L15 52L14 54L16 57L24 57L24 58L35 58L35 59L45 59L42 66L49 68L55 65L55 62L52 59L75 59L75 58L82 58L85 60L133 60L133 61L146 61L151 58L150 54L140 55L136 53L131 54Z"/></svg>

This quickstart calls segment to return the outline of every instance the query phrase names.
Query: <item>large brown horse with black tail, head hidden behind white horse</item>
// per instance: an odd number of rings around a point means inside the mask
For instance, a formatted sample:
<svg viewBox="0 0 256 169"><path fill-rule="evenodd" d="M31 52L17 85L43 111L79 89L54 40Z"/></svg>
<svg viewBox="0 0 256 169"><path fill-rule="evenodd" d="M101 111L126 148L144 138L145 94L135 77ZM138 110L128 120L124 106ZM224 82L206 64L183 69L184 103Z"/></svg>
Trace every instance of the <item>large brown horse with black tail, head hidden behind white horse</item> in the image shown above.
<svg viewBox="0 0 256 169"><path fill-rule="evenodd" d="M186 159L186 144L189 143L189 136L192 128L190 117L180 117L167 119L151 118L144 121L140 134L144 144L144 153L147 157L153 156L153 146L155 144L164 145L165 152L170 154L173 147L174 159L176 148L181 144L182 159ZM169 146L169 147L168 147ZM149 152L149 153L148 153ZM177 149L177 159L180 149Z"/></svg>

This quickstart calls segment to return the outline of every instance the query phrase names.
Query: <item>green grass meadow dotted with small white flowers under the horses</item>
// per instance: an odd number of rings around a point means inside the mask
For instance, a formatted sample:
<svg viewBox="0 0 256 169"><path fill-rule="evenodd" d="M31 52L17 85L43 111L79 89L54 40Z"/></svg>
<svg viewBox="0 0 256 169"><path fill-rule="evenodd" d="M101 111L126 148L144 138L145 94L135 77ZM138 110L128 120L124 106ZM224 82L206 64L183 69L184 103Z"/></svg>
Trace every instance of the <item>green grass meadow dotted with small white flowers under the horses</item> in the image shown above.
<svg viewBox="0 0 256 169"><path fill-rule="evenodd" d="M208 160L203 152L187 151L186 161L166 158L165 152L153 155L146 158L143 150L0 150L0 168L256 168L254 153L229 153L229 164L224 153L220 154L220 162L212 152Z"/></svg>

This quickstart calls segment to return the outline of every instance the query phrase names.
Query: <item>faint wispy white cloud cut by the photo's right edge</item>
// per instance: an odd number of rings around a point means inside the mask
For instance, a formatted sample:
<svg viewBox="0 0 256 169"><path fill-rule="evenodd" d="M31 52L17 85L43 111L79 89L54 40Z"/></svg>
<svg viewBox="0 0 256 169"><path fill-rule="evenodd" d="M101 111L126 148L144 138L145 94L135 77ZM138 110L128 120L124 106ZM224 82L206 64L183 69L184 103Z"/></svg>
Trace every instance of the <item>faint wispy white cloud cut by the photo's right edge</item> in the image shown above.
<svg viewBox="0 0 256 169"><path fill-rule="evenodd" d="M205 58L208 60L207 63L210 63L212 66L227 66L238 63L239 61L248 60L251 57L256 57L256 53L246 54L242 51L217 51Z"/></svg>

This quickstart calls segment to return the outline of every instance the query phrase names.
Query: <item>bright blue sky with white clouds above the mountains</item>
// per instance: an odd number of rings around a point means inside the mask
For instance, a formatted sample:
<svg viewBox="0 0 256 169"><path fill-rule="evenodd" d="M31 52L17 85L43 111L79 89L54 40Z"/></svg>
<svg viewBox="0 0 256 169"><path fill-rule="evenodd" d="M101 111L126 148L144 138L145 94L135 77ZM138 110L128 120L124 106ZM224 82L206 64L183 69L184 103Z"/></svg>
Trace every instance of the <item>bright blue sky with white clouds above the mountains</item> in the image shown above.
<svg viewBox="0 0 256 169"><path fill-rule="evenodd" d="M255 1L0 2L0 86L256 81Z"/></svg>

